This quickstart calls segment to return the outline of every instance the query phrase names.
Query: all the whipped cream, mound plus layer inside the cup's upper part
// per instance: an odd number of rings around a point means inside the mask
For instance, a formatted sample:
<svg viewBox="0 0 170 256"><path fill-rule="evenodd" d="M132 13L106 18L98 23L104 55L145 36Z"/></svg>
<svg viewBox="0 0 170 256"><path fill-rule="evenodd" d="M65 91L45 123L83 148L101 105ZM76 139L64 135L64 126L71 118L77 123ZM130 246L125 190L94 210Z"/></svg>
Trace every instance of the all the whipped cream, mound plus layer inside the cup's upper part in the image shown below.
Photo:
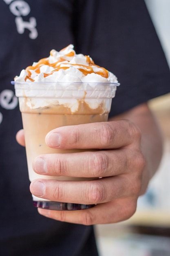
<svg viewBox="0 0 170 256"><path fill-rule="evenodd" d="M73 45L60 52L51 50L50 56L34 62L15 76L15 95L19 97L20 110L64 105L76 112L79 101L91 109L102 106L110 111L115 97L117 77L104 67L95 65L90 56L76 54Z"/></svg>

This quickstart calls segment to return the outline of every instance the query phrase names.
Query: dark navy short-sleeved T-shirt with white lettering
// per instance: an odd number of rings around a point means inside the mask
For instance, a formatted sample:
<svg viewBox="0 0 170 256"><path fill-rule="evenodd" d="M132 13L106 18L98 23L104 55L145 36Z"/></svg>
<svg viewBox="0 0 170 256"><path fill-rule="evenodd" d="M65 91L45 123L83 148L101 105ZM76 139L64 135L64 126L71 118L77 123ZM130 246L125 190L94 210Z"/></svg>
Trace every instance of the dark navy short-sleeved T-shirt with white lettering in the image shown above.
<svg viewBox="0 0 170 256"><path fill-rule="evenodd" d="M92 226L40 216L33 207L15 75L51 49L75 45L121 85L110 116L168 93L169 67L143 0L0 1L0 255L97 256Z"/></svg>

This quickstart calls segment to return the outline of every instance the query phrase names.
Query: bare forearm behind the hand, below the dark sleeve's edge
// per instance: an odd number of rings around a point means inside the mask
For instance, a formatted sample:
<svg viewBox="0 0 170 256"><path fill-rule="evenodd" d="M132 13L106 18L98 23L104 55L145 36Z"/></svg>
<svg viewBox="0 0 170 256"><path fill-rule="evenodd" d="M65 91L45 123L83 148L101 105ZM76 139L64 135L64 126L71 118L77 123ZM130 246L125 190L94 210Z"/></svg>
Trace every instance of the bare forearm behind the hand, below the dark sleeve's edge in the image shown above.
<svg viewBox="0 0 170 256"><path fill-rule="evenodd" d="M157 171L162 156L162 137L157 123L148 108L148 105L142 104L125 112L122 115L111 118L109 121L117 119L129 119L141 130L141 150L146 160L143 172L143 181L141 193L146 191L151 177Z"/></svg>

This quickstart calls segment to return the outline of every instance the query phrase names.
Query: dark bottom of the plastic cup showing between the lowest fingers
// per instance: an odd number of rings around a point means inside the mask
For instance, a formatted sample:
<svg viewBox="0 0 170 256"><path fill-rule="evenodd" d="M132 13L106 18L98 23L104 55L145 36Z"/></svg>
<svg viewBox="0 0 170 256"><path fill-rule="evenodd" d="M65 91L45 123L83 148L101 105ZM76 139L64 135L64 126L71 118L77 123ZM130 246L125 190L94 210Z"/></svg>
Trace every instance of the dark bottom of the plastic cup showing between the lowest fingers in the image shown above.
<svg viewBox="0 0 170 256"><path fill-rule="evenodd" d="M57 210L57 211L83 210L83 209L88 209L95 206L95 204L72 204L72 203L53 202L53 201L33 201L33 205L37 208Z"/></svg>

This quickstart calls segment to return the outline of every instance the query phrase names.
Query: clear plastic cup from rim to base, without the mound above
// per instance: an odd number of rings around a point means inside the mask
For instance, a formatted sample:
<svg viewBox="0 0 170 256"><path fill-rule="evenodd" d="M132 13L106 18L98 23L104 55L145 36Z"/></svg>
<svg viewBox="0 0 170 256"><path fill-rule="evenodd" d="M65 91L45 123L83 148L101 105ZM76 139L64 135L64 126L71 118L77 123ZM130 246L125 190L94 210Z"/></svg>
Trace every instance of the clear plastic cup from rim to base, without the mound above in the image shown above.
<svg viewBox="0 0 170 256"><path fill-rule="evenodd" d="M108 120L112 98L119 83L12 82L19 98L26 143L29 180L88 180L82 177L39 175L33 160L41 154L73 153L83 150L60 150L45 144L46 134L61 126ZM89 178L90 179L90 178ZM94 205L52 202L33 195L35 207L51 210L79 210Z"/></svg>

